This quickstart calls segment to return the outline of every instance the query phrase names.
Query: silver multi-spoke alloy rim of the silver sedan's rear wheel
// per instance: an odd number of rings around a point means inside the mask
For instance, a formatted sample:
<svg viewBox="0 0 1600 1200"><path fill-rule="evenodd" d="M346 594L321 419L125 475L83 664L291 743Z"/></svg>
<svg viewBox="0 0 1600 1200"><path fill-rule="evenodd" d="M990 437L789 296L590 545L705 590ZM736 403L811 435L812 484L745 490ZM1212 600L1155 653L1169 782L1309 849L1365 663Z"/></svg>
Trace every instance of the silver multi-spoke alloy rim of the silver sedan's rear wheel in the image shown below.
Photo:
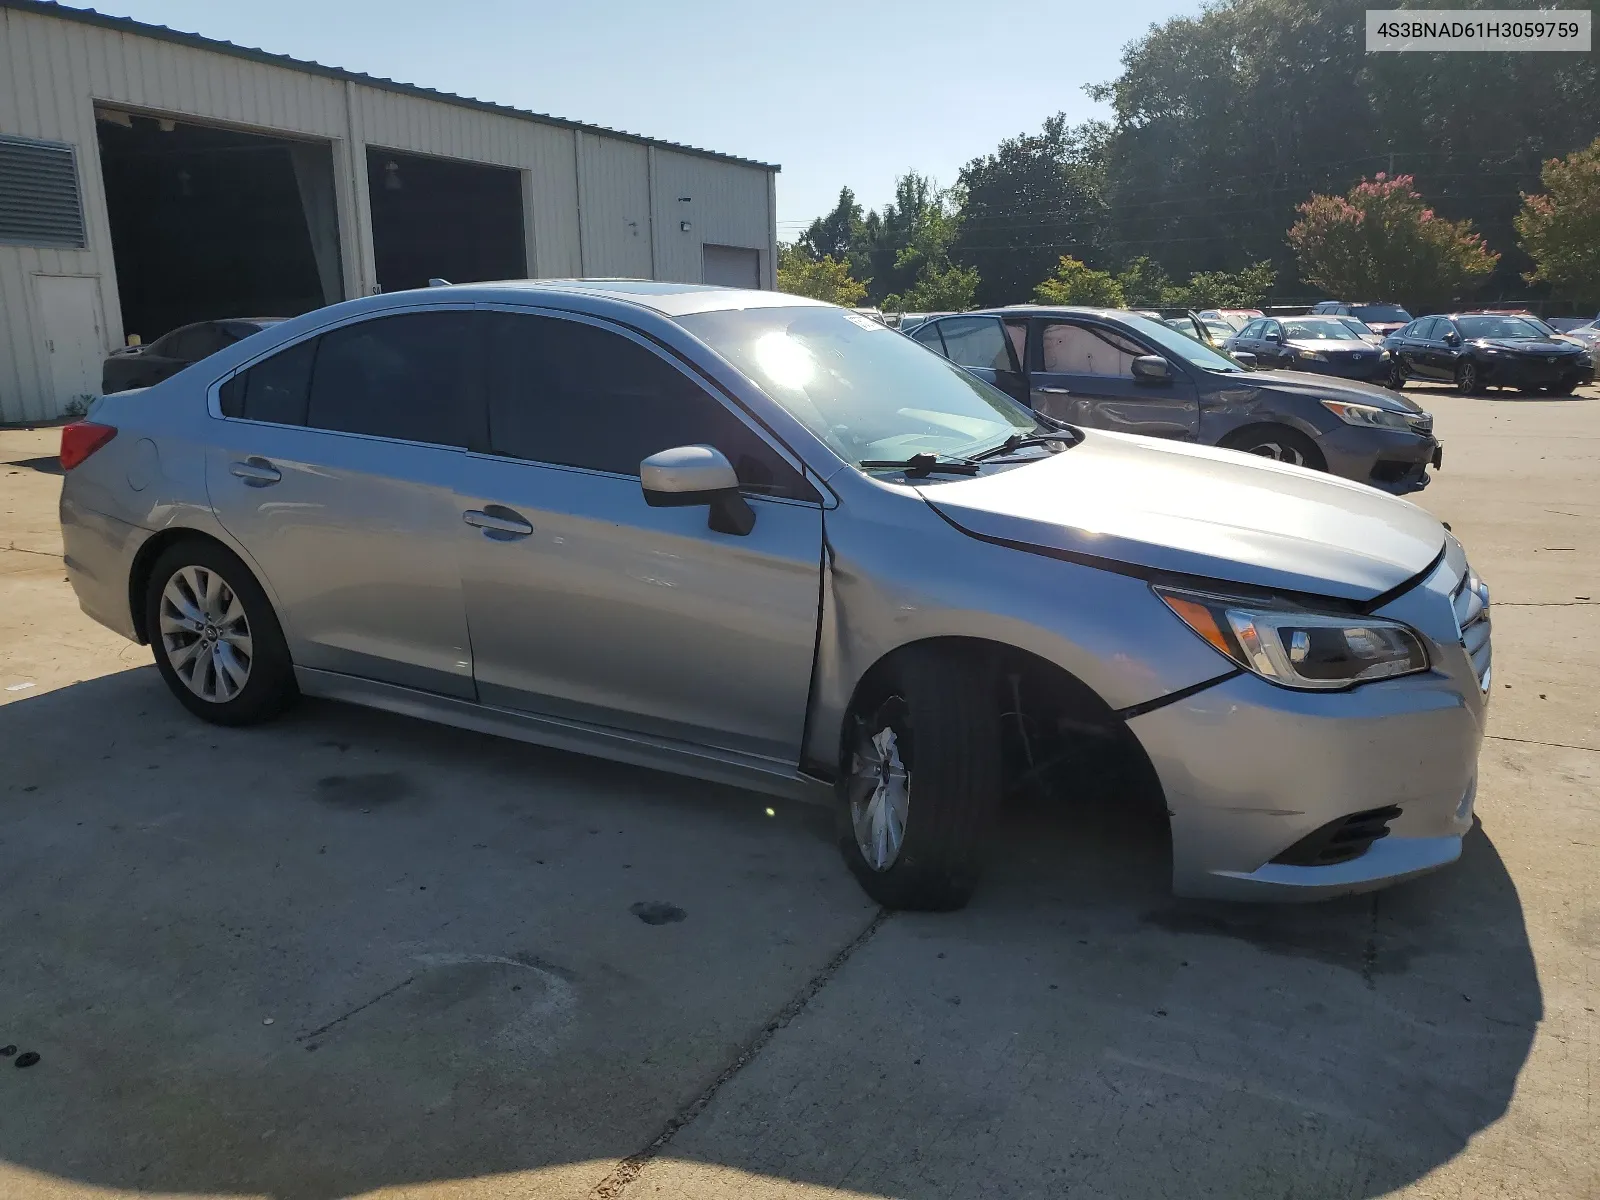
<svg viewBox="0 0 1600 1200"><path fill-rule="evenodd" d="M162 653L195 696L227 704L250 682L245 605L210 566L181 566L162 589Z"/></svg>

